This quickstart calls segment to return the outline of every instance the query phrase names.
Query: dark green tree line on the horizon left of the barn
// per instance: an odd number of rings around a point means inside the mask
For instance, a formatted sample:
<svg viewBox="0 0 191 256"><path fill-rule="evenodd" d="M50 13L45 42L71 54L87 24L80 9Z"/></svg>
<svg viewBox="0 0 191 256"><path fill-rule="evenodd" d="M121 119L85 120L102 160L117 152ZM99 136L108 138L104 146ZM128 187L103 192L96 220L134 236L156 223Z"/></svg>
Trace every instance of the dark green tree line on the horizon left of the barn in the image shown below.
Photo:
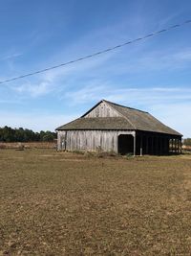
<svg viewBox="0 0 191 256"><path fill-rule="evenodd" d="M0 142L53 141L56 133L50 130L34 132L29 128L0 128Z"/></svg>

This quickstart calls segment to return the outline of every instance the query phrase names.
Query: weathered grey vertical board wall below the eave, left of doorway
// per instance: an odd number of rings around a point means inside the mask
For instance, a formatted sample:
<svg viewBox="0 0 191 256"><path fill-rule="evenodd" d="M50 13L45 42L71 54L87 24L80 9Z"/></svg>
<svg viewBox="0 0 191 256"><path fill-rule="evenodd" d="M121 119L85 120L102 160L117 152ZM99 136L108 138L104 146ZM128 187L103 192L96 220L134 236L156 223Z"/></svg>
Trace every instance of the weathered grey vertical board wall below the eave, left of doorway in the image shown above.
<svg viewBox="0 0 191 256"><path fill-rule="evenodd" d="M119 134L132 134L123 130L59 130L58 150L67 151L115 151Z"/></svg>

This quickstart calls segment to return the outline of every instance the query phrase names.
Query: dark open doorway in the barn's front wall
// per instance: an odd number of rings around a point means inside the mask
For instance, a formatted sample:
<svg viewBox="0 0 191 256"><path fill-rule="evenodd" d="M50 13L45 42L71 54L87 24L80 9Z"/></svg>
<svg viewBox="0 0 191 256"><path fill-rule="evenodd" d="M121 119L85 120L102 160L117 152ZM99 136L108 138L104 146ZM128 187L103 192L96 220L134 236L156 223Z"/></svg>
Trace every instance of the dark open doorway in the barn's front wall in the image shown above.
<svg viewBox="0 0 191 256"><path fill-rule="evenodd" d="M134 153L134 137L129 134L120 134L118 136L118 153Z"/></svg>

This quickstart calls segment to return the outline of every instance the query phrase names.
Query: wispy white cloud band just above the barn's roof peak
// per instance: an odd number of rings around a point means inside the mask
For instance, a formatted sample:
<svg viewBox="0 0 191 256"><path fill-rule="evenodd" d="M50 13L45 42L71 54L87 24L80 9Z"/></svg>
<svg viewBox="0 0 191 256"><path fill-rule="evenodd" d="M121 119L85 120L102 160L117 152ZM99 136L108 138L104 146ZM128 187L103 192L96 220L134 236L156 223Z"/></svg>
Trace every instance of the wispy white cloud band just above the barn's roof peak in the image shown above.
<svg viewBox="0 0 191 256"><path fill-rule="evenodd" d="M128 104L155 105L157 103L170 103L175 101L191 101L191 88L189 87L130 87L116 88L114 85L100 81L91 83L74 92L68 92L64 97L75 105L86 104L92 100L105 98L110 101Z"/></svg>

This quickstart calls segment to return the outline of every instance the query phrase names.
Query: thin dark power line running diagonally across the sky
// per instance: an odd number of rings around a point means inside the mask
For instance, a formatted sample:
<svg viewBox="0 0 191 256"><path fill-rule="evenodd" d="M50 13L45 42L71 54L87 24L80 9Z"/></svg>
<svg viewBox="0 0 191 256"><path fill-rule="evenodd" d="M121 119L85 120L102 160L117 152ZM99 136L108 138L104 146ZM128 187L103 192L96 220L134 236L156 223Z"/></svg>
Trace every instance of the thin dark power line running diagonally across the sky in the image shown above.
<svg viewBox="0 0 191 256"><path fill-rule="evenodd" d="M184 22L180 23L180 24L176 24L176 25L173 25L173 26L170 26L168 28L165 28L163 30L160 30L160 31L157 31L157 32L154 32L154 33L151 33L151 34L147 34L147 35L144 35L142 37L138 37L136 39L133 39L133 40L129 40L129 41L126 41L124 43L121 43L121 44L118 44L114 47L111 47L111 48L107 48L107 49L104 49L102 51L99 51L99 52L96 52L92 55L87 55L87 56L84 56L84 57L81 57L81 58L75 58L74 60L70 60L68 62L64 62L64 63L61 63L61 64L58 64L58 65L54 65L52 67L48 67L48 68L44 68L44 69L41 69L41 70L37 70L37 71L34 71L32 73L28 73L28 74L24 74L24 75L21 75L21 76L18 76L18 77L15 77L15 78L12 78L12 79L8 79L8 80L4 80L4 81L0 81L0 84L1 83L5 83L5 82L9 82L9 81L15 81L15 80L19 80L19 79L23 79L23 78L27 78L27 77L31 77L33 75L36 75L36 74L40 74L40 73L44 73L44 72L47 72L49 70L52 70L52 69L55 69L55 68L59 68L59 67L62 67L62 66L67 66L67 65L70 65L70 64L73 64L74 62L78 62L78 61L81 61L81 60L84 60L86 58L93 58L93 57L96 57L98 55L102 55L102 54L105 54L107 52L111 52L111 51L114 51L116 50L117 48L120 48L120 47L123 47L125 45L128 45L128 44L132 44L132 43L135 43L135 42L138 42L140 40L143 40L143 39L146 39L148 37L151 37L151 36L155 36L155 35L159 35L161 33L164 33L164 32L168 32L170 30L174 30L174 29L177 29L183 25L186 25L188 23L191 23L191 20L185 20Z"/></svg>

